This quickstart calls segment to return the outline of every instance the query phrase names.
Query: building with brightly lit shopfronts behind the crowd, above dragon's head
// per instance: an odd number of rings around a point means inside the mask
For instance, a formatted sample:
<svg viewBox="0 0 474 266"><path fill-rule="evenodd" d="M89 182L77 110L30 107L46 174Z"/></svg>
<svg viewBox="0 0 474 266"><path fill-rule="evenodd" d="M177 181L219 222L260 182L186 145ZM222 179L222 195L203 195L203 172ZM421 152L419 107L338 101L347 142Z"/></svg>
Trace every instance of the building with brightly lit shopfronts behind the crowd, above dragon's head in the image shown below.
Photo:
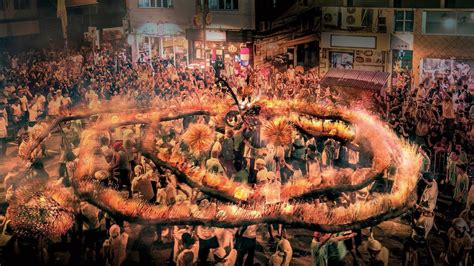
<svg viewBox="0 0 474 266"><path fill-rule="evenodd" d="M127 11L135 59L159 56L189 64L250 60L255 0L128 0Z"/></svg>

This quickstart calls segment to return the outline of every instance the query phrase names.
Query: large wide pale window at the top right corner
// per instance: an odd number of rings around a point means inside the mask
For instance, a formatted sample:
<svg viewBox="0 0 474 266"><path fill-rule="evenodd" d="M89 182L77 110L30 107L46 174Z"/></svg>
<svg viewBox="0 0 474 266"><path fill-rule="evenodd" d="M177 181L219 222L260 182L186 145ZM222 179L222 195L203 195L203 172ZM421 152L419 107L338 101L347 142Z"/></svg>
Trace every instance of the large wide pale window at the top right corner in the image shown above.
<svg viewBox="0 0 474 266"><path fill-rule="evenodd" d="M423 33L474 36L474 12L423 12Z"/></svg>

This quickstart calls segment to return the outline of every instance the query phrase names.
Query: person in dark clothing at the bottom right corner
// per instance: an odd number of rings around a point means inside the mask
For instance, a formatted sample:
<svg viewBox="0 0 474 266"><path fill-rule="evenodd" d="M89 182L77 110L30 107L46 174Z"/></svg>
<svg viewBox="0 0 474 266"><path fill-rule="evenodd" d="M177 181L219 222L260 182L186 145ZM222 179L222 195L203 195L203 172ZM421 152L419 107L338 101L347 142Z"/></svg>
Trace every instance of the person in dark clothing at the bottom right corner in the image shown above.
<svg viewBox="0 0 474 266"><path fill-rule="evenodd" d="M466 221L462 218L453 220L452 227L449 228L448 249L446 254L442 256L444 263L447 265L468 265L468 255L472 250L471 237L467 233Z"/></svg>

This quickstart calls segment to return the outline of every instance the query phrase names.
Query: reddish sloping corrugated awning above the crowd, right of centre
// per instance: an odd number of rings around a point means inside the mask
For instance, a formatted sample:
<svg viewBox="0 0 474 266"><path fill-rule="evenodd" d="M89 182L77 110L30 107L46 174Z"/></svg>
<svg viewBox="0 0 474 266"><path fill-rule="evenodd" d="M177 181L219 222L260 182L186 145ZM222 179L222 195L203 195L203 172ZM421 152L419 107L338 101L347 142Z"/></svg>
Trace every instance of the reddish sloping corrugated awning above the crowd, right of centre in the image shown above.
<svg viewBox="0 0 474 266"><path fill-rule="evenodd" d="M331 68L321 83L326 86L380 90L387 84L389 76L387 72Z"/></svg>

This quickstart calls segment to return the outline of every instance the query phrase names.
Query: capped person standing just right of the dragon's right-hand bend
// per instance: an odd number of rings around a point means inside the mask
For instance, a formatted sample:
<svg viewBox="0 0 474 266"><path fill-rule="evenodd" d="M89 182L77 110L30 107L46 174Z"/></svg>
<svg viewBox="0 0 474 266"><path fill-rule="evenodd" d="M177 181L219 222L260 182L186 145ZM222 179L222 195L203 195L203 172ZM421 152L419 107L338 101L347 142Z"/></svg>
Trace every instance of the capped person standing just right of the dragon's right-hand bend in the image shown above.
<svg viewBox="0 0 474 266"><path fill-rule="evenodd" d="M430 172L424 172L422 176L426 187L415 207L420 213L418 223L425 226L425 238L427 238L434 224L434 209L438 200L438 183Z"/></svg>

